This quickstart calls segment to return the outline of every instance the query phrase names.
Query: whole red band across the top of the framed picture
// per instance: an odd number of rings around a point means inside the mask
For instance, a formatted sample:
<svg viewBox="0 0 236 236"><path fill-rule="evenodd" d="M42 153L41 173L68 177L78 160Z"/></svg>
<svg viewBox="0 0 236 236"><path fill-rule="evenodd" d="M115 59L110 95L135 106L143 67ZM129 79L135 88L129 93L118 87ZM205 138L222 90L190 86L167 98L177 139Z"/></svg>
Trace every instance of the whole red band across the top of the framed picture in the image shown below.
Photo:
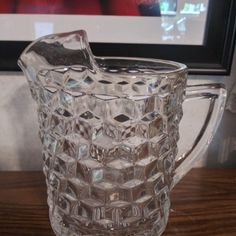
<svg viewBox="0 0 236 236"><path fill-rule="evenodd" d="M0 13L139 16L139 1L153 0L7 0Z"/></svg>

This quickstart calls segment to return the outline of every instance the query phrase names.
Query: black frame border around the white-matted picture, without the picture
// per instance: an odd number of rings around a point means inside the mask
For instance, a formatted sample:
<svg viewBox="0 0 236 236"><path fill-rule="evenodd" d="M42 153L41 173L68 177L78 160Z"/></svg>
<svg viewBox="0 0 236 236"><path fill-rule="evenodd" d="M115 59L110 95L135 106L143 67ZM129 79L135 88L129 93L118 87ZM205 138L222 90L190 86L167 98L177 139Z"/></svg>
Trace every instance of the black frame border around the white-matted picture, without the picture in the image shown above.
<svg viewBox="0 0 236 236"><path fill-rule="evenodd" d="M209 0L202 45L91 43L96 56L145 57L184 63L190 74L229 75L236 35L236 0ZM0 41L0 70L18 71L30 41Z"/></svg>

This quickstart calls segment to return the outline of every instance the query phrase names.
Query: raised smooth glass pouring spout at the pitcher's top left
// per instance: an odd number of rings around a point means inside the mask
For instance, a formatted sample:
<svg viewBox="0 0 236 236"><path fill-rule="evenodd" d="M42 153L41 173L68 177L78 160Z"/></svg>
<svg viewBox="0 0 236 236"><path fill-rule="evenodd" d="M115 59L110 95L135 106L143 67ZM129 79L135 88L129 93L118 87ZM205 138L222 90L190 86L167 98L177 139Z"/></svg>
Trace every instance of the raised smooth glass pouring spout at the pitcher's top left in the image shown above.
<svg viewBox="0 0 236 236"><path fill-rule="evenodd" d="M96 70L96 61L84 30L52 34L32 42L21 54L18 65L30 81L40 70L82 66Z"/></svg>

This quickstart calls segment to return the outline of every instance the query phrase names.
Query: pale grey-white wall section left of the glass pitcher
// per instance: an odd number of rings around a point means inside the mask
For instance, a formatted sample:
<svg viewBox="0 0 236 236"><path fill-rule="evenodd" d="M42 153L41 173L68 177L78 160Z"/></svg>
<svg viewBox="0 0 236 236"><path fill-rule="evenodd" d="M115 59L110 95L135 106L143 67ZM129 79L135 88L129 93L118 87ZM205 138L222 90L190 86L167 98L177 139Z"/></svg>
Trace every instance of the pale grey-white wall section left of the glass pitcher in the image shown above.
<svg viewBox="0 0 236 236"><path fill-rule="evenodd" d="M36 107L23 75L0 75L0 170L41 165Z"/></svg>

